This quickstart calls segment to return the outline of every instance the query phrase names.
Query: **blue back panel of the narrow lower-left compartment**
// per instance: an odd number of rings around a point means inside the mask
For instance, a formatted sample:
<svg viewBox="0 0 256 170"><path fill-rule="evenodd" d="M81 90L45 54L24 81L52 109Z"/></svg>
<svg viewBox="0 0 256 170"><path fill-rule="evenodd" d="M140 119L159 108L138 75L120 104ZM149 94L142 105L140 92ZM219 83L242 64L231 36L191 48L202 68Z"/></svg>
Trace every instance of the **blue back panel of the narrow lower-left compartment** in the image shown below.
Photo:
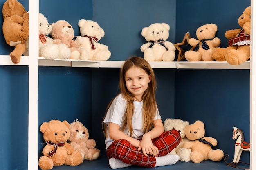
<svg viewBox="0 0 256 170"><path fill-rule="evenodd" d="M28 67L0 66L0 77L0 169L24 170L28 152Z"/></svg>

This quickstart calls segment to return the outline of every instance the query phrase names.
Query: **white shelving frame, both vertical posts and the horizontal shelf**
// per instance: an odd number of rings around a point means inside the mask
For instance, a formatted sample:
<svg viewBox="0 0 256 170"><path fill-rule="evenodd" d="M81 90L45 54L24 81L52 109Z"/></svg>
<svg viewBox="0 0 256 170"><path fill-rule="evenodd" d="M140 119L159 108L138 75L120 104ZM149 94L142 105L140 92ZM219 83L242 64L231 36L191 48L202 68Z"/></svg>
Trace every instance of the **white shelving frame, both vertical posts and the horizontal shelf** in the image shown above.
<svg viewBox="0 0 256 170"><path fill-rule="evenodd" d="M256 32L256 14L253 9L256 8L251 0L252 17L251 30ZM85 60L47 60L38 56L38 12L39 0L29 0L29 57L22 56L17 65L27 65L29 67L29 127L28 127L28 170L38 169L38 66L63 66L63 67L88 67L88 68L120 68L124 61L85 61ZM255 16L255 17L254 17ZM253 29L255 28L255 29ZM227 62L150 62L153 68L170 69L250 69L250 169L256 170L256 62L253 57L256 56L256 36L251 32L251 61L234 66ZM13 65L9 56L0 56L0 65ZM254 160L254 161L253 161Z"/></svg>

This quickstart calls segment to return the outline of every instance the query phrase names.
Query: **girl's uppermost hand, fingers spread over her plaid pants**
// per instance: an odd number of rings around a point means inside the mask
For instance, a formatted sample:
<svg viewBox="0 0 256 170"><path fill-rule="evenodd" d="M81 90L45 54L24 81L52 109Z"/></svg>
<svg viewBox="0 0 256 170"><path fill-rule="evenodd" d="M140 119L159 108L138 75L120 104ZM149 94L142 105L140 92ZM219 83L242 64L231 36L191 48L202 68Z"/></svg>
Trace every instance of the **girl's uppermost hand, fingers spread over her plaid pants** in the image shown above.
<svg viewBox="0 0 256 170"><path fill-rule="evenodd" d="M156 157L159 154L159 150L153 145L149 133L143 135L138 150L142 150L142 153L145 156L152 155L153 157Z"/></svg>

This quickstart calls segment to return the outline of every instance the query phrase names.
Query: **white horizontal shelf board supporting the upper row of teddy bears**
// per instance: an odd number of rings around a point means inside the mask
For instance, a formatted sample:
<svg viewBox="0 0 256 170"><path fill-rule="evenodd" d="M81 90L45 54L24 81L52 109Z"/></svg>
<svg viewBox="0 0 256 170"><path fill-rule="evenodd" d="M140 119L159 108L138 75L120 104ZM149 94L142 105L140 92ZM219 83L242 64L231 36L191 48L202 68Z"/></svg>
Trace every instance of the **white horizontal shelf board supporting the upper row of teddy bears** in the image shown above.
<svg viewBox="0 0 256 170"><path fill-rule="evenodd" d="M55 59L49 60L38 57L39 66L62 66L62 67L87 67L87 68L121 68L124 61L94 61L76 59ZM0 55L0 65L28 65L29 57L22 56L20 63L13 64L9 55ZM250 61L240 65L230 65L227 61L150 61L152 68L173 68L173 69L250 69Z"/></svg>

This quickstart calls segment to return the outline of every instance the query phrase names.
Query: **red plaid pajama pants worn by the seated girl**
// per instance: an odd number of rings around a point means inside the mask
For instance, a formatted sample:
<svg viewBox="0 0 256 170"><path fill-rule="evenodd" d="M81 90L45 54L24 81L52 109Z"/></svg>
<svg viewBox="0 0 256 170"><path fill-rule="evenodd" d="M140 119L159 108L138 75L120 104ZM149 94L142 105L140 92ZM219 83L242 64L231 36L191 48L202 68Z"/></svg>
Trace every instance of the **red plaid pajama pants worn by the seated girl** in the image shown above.
<svg viewBox="0 0 256 170"><path fill-rule="evenodd" d="M180 141L180 133L175 129L163 132L159 137L152 139L153 145L159 150L157 157L170 153L178 146ZM139 151L128 140L124 139L112 142L106 151L108 159L114 157L127 164L154 167L156 163L155 157L152 155L145 156L142 151Z"/></svg>

